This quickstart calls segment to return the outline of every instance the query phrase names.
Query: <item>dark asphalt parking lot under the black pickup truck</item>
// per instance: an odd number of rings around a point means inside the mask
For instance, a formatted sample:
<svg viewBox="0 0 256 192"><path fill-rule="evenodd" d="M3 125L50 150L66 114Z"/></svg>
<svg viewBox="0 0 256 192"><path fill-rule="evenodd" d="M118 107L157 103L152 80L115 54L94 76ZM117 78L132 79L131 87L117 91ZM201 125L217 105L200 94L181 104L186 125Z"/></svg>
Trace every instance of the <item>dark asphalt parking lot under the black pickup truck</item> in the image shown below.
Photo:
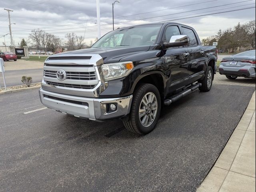
<svg viewBox="0 0 256 192"><path fill-rule="evenodd" d="M238 80L165 107L146 136L42 109L38 90L1 95L0 191L196 191L255 90Z"/></svg>

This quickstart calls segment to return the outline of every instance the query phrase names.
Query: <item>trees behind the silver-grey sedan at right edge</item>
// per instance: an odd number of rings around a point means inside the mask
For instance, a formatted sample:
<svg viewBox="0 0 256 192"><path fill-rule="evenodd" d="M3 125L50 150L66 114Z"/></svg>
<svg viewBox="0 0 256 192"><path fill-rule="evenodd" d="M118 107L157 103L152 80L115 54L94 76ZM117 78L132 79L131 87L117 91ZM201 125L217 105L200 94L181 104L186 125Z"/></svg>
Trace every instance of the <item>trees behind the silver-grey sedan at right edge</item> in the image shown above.
<svg viewBox="0 0 256 192"><path fill-rule="evenodd" d="M202 39L204 45L212 45L218 42L218 50L223 52L238 52L255 49L255 20L238 23L233 28L219 30L214 36Z"/></svg>

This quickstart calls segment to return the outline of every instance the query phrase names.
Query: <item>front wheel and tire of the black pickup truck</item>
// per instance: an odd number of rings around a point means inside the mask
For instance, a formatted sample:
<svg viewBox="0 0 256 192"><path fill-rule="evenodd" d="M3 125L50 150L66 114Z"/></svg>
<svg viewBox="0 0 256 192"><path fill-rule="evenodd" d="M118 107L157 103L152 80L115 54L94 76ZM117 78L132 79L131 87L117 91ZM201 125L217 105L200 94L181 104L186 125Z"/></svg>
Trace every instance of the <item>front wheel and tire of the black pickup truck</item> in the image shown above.
<svg viewBox="0 0 256 192"><path fill-rule="evenodd" d="M150 98L151 101L148 101L146 105L145 102ZM130 132L141 135L148 134L154 130L160 111L161 97L156 86L140 84L134 92L128 120L123 120L124 126Z"/></svg>

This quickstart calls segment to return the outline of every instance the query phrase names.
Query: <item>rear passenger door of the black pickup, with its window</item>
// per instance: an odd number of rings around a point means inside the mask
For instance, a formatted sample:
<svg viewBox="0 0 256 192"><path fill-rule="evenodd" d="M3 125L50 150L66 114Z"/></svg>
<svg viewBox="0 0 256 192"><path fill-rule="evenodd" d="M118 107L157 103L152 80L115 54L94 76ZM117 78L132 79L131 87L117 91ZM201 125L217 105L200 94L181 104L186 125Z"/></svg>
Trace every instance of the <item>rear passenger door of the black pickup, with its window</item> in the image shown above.
<svg viewBox="0 0 256 192"><path fill-rule="evenodd" d="M193 28L182 26L182 31L189 39L188 52L190 54L190 61L188 73L189 76L196 77L206 71L206 56L204 48Z"/></svg>

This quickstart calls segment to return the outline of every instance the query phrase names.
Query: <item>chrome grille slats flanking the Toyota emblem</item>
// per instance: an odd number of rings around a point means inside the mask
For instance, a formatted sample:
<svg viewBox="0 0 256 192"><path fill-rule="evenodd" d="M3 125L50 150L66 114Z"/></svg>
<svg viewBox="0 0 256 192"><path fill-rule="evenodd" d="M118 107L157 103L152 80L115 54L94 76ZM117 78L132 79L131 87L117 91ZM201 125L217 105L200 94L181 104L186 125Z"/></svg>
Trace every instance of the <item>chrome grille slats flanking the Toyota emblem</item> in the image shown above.
<svg viewBox="0 0 256 192"><path fill-rule="evenodd" d="M44 76L57 78L57 71L44 70ZM97 74L96 72L66 72L66 79L72 80L96 80Z"/></svg>

